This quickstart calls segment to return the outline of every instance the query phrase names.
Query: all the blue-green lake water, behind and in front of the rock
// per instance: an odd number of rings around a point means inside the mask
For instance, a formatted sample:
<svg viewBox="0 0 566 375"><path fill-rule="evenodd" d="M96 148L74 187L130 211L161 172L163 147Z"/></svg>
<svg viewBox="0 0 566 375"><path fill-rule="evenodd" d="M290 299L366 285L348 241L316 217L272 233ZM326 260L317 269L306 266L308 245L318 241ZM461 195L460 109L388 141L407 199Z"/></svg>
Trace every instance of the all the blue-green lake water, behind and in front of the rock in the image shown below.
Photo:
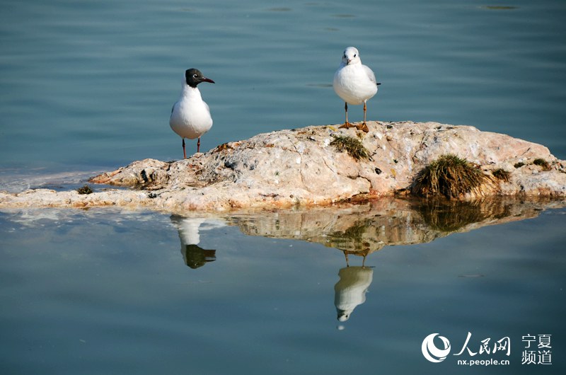
<svg viewBox="0 0 566 375"><path fill-rule="evenodd" d="M369 119L473 125L566 158L562 0L0 7L0 188L72 186L141 158L180 158L168 116L190 67L216 81L200 86L214 118L204 151L259 132L340 123L331 83L349 45L382 83ZM361 120L362 108L351 106L350 119ZM461 208L473 214L460 233L459 224L434 226L433 208L286 219L4 210L0 371L562 373L566 209L515 208L523 220L474 230L486 218ZM494 220L514 215L502 209ZM412 241L383 241L391 231ZM338 249L359 253L364 243L384 247L364 267L350 254L347 267ZM347 321L337 319L340 306L356 306ZM509 337L510 356L453 356L468 332L474 352L487 337L490 345ZM451 342L444 362L423 357L432 333ZM521 364L530 335L533 347L552 335L551 365ZM441 347L438 337L434 344ZM470 369L458 358L510 364Z"/></svg>

